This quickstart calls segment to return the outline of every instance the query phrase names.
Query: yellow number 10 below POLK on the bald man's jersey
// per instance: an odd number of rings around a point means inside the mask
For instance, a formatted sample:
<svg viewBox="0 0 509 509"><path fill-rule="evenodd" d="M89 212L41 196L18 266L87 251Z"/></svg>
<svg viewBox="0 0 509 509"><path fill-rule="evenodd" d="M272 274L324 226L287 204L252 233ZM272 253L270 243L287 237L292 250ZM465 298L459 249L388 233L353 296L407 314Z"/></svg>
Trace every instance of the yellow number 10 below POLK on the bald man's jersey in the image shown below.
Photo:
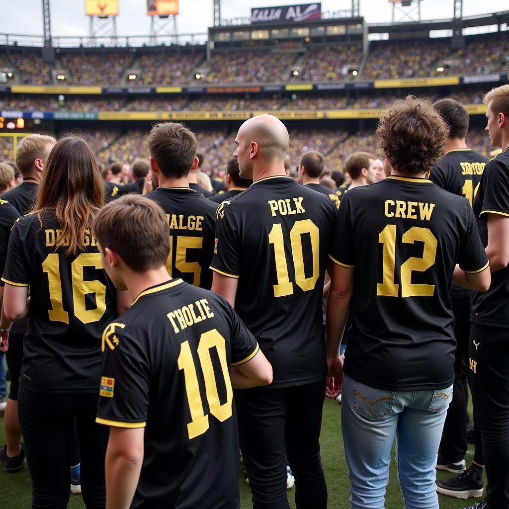
<svg viewBox="0 0 509 509"><path fill-rule="evenodd" d="M313 274L304 274L304 253L302 250L302 235L309 235L311 239L311 253L313 257ZM315 288L320 275L320 231L310 219L295 221L290 230L292 259L295 268L295 282L303 292ZM274 285L274 297L284 297L293 294L293 282L288 275L288 262L285 254L285 240L281 223L274 224L269 233L269 243L274 245L276 262L277 285Z"/></svg>

